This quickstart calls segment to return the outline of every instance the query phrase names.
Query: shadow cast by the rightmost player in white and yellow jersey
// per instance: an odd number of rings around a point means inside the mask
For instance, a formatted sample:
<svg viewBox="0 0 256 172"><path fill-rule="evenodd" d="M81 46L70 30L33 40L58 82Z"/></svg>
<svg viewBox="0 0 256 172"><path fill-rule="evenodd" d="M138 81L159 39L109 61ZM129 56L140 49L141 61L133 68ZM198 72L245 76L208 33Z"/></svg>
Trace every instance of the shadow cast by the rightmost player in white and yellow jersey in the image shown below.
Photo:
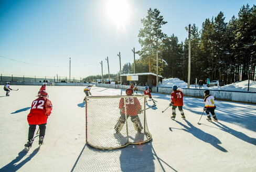
<svg viewBox="0 0 256 172"><path fill-rule="evenodd" d="M232 128L222 124L222 123L214 123L216 126L220 127L220 130L223 130L229 134L232 134L233 136L241 139L244 142L256 145L256 138L252 138L247 136L246 134L243 134L242 132L238 132L236 130L233 130Z"/></svg>

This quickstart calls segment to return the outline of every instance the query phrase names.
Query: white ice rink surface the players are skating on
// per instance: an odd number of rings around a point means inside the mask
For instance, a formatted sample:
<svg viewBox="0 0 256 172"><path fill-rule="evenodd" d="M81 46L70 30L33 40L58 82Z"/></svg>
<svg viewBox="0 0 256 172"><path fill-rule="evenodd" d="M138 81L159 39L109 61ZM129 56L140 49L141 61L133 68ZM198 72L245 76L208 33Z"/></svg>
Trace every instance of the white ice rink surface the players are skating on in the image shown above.
<svg viewBox="0 0 256 172"><path fill-rule="evenodd" d="M3 85L2 85L3 87ZM219 123L202 116L204 100L184 98L186 121L176 109L170 119L170 95L153 93L157 106L146 111L152 141L121 149L99 150L85 139L84 87L46 88L53 104L44 145L38 136L29 152L27 114L39 86L11 85L0 91L0 171L255 171L256 105L216 101ZM92 87L92 95L124 95L125 90ZM142 92L140 92L142 93ZM151 101L148 104L152 105ZM99 110L105 107L99 107Z"/></svg>

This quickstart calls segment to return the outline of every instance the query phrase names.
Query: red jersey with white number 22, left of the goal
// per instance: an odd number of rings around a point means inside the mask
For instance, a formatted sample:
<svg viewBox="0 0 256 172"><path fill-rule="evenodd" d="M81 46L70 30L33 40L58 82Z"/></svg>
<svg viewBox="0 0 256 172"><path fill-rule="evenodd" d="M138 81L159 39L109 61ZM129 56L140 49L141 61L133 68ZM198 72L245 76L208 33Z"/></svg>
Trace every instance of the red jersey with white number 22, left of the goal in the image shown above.
<svg viewBox="0 0 256 172"><path fill-rule="evenodd" d="M28 124L46 124L48 116L51 114L52 104L46 98L38 98L32 102L30 113L28 114Z"/></svg>

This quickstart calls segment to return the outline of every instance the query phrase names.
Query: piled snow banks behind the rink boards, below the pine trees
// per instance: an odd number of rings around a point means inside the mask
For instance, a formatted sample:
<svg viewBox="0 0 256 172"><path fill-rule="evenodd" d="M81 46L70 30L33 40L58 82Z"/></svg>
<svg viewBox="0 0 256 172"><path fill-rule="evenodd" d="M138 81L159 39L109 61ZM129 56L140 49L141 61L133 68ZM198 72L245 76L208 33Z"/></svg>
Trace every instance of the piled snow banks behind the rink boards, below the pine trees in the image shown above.
<svg viewBox="0 0 256 172"><path fill-rule="evenodd" d="M197 83L198 84L198 83ZM159 84L160 87L173 87L173 85L177 85L181 88L187 88L188 84L178 78L169 78L163 79L163 83ZM190 84L189 88L195 88L195 84ZM197 88L199 86L197 85ZM238 81L236 83L224 85L222 87L207 87L206 84L202 86L202 89L211 89L211 90L232 90L232 91L247 91L248 90L248 80ZM256 81L250 80L249 91L256 92Z"/></svg>

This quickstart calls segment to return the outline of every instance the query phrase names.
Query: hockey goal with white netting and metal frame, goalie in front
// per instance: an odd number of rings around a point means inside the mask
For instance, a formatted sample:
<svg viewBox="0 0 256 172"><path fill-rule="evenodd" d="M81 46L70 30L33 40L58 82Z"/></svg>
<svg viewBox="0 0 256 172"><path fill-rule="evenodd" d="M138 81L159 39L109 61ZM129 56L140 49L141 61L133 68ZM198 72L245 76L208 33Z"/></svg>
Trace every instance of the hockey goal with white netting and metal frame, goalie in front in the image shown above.
<svg viewBox="0 0 256 172"><path fill-rule="evenodd" d="M87 96L86 143L115 149L152 139L146 121L148 95Z"/></svg>

